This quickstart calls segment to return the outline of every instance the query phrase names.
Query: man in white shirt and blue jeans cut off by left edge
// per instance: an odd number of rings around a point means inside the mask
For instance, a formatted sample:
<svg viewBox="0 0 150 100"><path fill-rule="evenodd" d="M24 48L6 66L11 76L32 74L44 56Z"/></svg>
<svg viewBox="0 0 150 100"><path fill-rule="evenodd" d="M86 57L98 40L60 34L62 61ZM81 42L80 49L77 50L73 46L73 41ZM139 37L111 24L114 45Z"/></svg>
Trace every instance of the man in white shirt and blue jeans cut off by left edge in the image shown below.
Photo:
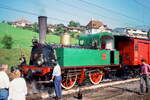
<svg viewBox="0 0 150 100"><path fill-rule="evenodd" d="M6 74L7 64L0 66L0 100L8 100L9 77Z"/></svg>

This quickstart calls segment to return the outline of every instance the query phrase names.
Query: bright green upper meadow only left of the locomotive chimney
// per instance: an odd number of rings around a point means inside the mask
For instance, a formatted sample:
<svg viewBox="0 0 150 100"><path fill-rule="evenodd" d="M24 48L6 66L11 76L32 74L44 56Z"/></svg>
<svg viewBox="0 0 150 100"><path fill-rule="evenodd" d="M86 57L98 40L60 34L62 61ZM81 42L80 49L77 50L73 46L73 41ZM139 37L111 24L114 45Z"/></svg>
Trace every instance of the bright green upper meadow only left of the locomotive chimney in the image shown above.
<svg viewBox="0 0 150 100"><path fill-rule="evenodd" d="M29 48L33 37L37 37L38 34L29 30L23 30L14 28L8 24L0 23L0 41L3 39L5 34L12 36L13 48ZM0 48L3 45L0 44Z"/></svg>

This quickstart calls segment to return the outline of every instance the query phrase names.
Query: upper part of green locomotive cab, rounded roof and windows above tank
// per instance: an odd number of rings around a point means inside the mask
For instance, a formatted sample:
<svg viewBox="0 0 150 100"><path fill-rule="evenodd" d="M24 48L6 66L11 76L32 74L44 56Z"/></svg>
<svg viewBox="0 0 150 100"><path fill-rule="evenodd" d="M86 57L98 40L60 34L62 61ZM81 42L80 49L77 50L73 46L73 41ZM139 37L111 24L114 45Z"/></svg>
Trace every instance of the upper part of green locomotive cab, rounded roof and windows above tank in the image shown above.
<svg viewBox="0 0 150 100"><path fill-rule="evenodd" d="M114 37L111 33L83 35L79 38L80 46L91 46L93 49L114 49Z"/></svg>

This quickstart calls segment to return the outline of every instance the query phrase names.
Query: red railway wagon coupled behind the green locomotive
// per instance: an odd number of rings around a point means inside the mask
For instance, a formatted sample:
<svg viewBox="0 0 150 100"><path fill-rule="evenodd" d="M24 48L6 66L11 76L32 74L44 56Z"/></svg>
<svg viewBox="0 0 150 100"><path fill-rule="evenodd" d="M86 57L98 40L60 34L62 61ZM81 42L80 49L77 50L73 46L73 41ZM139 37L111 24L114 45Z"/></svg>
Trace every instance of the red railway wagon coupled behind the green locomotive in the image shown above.
<svg viewBox="0 0 150 100"><path fill-rule="evenodd" d="M115 46L120 52L120 64L137 66L143 58L150 64L150 40L115 36Z"/></svg>

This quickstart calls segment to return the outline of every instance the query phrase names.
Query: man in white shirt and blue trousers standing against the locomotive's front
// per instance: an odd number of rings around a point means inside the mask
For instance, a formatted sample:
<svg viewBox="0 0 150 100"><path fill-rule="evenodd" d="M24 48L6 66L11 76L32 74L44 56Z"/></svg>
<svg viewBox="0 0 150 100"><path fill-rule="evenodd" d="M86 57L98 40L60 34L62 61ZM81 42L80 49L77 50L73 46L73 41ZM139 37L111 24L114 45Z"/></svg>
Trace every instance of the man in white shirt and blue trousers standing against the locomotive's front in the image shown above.
<svg viewBox="0 0 150 100"><path fill-rule="evenodd" d="M54 87L55 87L55 94L56 94L56 100L61 99L62 96L62 89L61 89L61 69L59 64L57 64L54 60L52 60L52 66L54 67L53 73L52 73L52 80L54 80Z"/></svg>

